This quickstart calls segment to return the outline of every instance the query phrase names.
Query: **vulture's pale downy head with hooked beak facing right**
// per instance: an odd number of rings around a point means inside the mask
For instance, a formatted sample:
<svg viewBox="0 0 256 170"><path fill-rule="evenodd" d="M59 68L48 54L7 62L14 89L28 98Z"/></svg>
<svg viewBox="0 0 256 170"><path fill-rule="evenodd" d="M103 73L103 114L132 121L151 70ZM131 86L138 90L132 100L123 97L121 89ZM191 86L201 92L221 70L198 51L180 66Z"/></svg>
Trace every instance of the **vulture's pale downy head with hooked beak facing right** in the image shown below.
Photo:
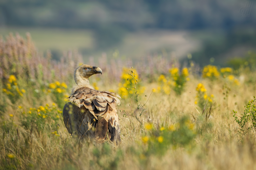
<svg viewBox="0 0 256 170"><path fill-rule="evenodd" d="M89 83L89 77L94 74L102 74L102 70L99 67L89 66L82 64L77 67L74 72L74 79L76 84Z"/></svg>

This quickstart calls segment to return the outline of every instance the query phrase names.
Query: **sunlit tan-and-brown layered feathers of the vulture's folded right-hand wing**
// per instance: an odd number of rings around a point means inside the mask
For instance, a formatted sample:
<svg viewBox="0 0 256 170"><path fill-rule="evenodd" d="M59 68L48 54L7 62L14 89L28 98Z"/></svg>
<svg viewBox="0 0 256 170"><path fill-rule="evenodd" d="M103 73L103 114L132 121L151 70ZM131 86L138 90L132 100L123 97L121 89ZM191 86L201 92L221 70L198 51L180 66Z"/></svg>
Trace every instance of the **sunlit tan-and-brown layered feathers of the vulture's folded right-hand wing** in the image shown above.
<svg viewBox="0 0 256 170"><path fill-rule="evenodd" d="M99 143L103 143L107 138L113 142L120 141L119 117L116 110L116 105L120 105L118 97L121 98L113 92L84 87L68 99L79 108L85 107L94 116L97 121L95 138Z"/></svg>

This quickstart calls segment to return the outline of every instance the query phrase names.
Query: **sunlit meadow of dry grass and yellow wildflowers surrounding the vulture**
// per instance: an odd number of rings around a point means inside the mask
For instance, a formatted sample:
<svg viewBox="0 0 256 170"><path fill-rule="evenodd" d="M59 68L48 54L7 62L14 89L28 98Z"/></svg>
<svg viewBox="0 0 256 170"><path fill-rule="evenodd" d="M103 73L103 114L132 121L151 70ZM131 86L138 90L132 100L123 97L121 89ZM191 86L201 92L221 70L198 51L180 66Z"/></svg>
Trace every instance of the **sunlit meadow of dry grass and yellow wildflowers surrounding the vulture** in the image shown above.
<svg viewBox="0 0 256 170"><path fill-rule="evenodd" d="M222 75L218 77L200 77L200 69L191 64L186 74L189 79L182 84L181 93L176 94L172 83L166 93L161 88L168 84L161 85L158 80L164 75L175 81L169 70L182 68L174 60L157 55L132 63L121 59L109 61L103 55L95 64L96 61L89 59L87 64L103 71L101 77L90 79L99 90L118 92L119 82L127 81L123 75L129 74L123 67L133 66L140 77L136 101L128 92L118 106L121 143L115 146L71 136L63 123L65 95L69 95L74 69L82 63L78 53L68 52L60 62L53 61L50 52L47 56L37 53L29 34L26 40L18 34L10 35L6 41L1 39L0 47L0 169L256 167L255 130L250 128L247 133L240 133L232 111L239 116L253 99L255 84L251 80L256 78L255 72L242 68L235 74L232 70L224 74L220 69ZM20 95L17 87L25 92ZM7 92L19 98L13 100L14 96ZM134 105L147 100L144 107ZM128 115L140 114L140 121L124 115L123 110Z"/></svg>

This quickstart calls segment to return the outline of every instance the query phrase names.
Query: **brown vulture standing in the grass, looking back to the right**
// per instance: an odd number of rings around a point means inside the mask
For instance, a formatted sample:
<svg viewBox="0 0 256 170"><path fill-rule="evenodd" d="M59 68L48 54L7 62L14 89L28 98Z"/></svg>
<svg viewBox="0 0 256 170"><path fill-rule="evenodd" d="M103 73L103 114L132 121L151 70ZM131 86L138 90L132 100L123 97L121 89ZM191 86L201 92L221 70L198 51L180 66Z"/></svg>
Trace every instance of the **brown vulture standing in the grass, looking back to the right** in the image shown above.
<svg viewBox="0 0 256 170"><path fill-rule="evenodd" d="M120 142L119 117L116 105L119 95L95 90L89 84L89 77L102 74L99 67L82 64L74 71L75 85L71 89L70 101L63 108L63 121L71 135L96 139L98 143L107 140Z"/></svg>

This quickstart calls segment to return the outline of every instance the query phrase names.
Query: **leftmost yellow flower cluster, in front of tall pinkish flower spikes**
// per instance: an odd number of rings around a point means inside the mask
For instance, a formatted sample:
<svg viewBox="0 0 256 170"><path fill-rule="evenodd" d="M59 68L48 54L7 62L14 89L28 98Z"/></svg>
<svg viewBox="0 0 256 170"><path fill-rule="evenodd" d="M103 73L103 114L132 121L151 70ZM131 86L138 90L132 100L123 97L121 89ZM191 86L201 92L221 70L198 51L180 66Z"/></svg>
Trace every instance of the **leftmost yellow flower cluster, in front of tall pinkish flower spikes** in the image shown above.
<svg viewBox="0 0 256 170"><path fill-rule="evenodd" d="M23 96L26 91L25 89L20 89L16 81L17 79L15 75L10 75L8 79L9 83L6 84L6 88L4 88L2 91L10 96L15 96L16 94Z"/></svg>

